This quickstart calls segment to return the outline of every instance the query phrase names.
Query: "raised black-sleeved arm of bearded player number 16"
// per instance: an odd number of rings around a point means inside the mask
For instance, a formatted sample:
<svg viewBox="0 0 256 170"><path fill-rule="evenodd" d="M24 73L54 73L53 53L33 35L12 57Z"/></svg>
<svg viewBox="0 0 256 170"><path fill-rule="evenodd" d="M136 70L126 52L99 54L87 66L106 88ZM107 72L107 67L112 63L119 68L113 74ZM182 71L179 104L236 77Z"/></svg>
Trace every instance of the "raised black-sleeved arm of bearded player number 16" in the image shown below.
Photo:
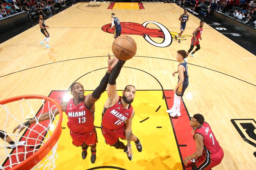
<svg viewBox="0 0 256 170"><path fill-rule="evenodd" d="M113 106L119 100L119 95L116 92L116 78L120 74L124 63L125 61L119 60L116 64L116 67L113 69L111 75L109 76L107 89L108 100L104 104L104 107L106 108Z"/></svg>

